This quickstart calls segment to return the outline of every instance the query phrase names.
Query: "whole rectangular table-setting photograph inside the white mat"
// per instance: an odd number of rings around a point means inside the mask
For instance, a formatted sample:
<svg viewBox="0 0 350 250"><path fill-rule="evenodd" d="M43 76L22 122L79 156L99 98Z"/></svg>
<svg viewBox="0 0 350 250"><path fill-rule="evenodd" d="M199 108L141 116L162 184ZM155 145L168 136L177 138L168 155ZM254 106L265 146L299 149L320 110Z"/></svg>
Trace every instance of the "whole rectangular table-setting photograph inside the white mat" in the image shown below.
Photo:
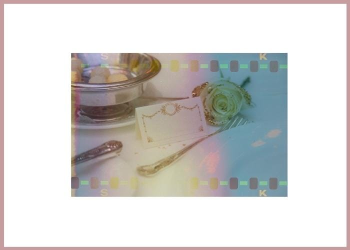
<svg viewBox="0 0 350 250"><path fill-rule="evenodd" d="M287 196L287 53L71 53L72 196Z"/></svg>

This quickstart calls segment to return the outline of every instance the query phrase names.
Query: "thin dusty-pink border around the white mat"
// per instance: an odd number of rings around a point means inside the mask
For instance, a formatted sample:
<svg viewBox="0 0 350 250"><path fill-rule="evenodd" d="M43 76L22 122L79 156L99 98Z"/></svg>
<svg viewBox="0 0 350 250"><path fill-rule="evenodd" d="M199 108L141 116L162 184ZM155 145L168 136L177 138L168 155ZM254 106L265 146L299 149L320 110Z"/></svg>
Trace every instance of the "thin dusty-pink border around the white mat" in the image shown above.
<svg viewBox="0 0 350 250"><path fill-rule="evenodd" d="M15 3L264 3L264 4L268 4L268 3L282 3L282 4L285 4L285 3L338 3L338 4L346 4L346 15L347 13L349 12L349 5L347 4L348 3L348 0L0 0L0 7L1 7L1 13L2 13L2 16L4 16L4 4L15 4ZM0 65L0 68L1 68L1 71L0 71L0 74L2 75L1 77L1 86L0 86L0 94L1 94L1 98L3 100L3 97L4 97L4 39L3 39L3 36L4 36L4 17L1 18L1 35L2 35L2 39L1 39L1 46L2 46L2 51L1 51L1 57L2 57L2 60L1 60L1 65ZM349 40L349 27L350 27L350 23L349 23L349 19L346 17L346 39L347 41ZM346 64L347 64L347 72L350 72L350 63L349 63L349 58L350 58L350 51L348 49L348 46L346 44ZM348 83L348 77L346 76L346 83ZM350 93L350 88L347 87L347 90L346 90L346 94L347 96L349 95ZM0 155L1 155L1 158L2 158L2 161L1 161L1 165L2 165L2 170L0 171L0 179L2 179L2 181L4 180L4 172L3 172L3 167L4 167L4 130L3 130L3 125L4 125L4 103L3 101L0 103L0 116L1 116L1 123L0 123L0 129L1 129L1 133L0 133L0 136L1 136L1 140L2 140L2 144L1 144L1 147L2 147L2 150L0 152ZM349 122L349 110L350 110L350 101L349 99L346 100L346 107L347 107L347 111L346 111L346 123L348 124ZM347 129L346 129L347 130ZM346 152L347 154L350 154L350 149L349 149L349 141L350 141L350 135L349 133L347 132L347 135L346 135L346 146L347 146L347 149L346 149ZM348 168L349 166L349 161L348 159L346 159L346 166ZM347 171L346 173L346 179L349 179L349 175L350 175L350 171ZM4 183L4 182L2 182ZM349 207L349 183L346 182L346 247L341 247L341 248L347 248L347 246L349 245L349 222L350 222L350 219L349 219L349 216L348 216L348 207ZM1 248L5 248L4 247L4 185L1 186L1 191L0 191L0 202L2 203L1 206L0 206L0 212L2 214L1 216L1 229L0 229L0 247ZM6 248L9 248L9 247L6 247ZM15 250L15 249L22 249L24 247L11 247L11 249ZM33 247L31 247L33 248ZM47 248L54 248L54 249L67 249L67 248L72 248L72 249L85 249L86 247L44 247L44 249L47 249ZM88 247L89 249L99 249L101 247ZM150 247L113 247L113 248L118 248L118 249L140 249L140 248L150 248ZM218 247L161 247L161 248L171 248L171 249L183 249L183 248L188 248L188 249L201 249L201 248L205 248L205 249L216 249ZM220 247L221 248L221 247ZM234 249L244 249L244 250L247 250L247 249L261 249L261 248L265 248L265 249L270 249L271 247L223 247L223 248L234 248ZM281 248L288 248L288 249L296 249L296 248L300 248L300 247L278 247L278 249L281 249ZM306 248L306 247L305 247ZM319 247L308 247L308 249L318 249ZM322 249L333 249L335 247L322 247Z"/></svg>

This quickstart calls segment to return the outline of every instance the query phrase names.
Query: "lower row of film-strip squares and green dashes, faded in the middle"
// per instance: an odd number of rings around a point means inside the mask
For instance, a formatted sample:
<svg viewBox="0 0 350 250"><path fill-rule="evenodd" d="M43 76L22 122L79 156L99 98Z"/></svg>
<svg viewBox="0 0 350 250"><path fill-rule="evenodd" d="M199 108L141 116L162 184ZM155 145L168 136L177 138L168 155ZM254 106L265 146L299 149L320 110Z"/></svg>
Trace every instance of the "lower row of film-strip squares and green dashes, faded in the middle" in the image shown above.
<svg viewBox="0 0 350 250"><path fill-rule="evenodd" d="M258 189L266 188L277 189L279 186L286 186L286 180L279 180L276 177L270 177L268 180L259 180L256 177L251 177L248 180L239 180L237 177L231 177L228 180L218 180L212 177L209 180L199 180L197 177L190 178L190 187L198 189L199 187L207 186L210 189L217 189L219 186L227 187L229 189L249 188ZM97 177L88 179L79 179L79 177L71 177L71 188L77 189L80 186L89 186L92 189L99 187L110 187L113 189L122 186L136 189L138 187L138 178L131 177L129 180L120 180L118 177L111 177L109 180L99 180Z"/></svg>

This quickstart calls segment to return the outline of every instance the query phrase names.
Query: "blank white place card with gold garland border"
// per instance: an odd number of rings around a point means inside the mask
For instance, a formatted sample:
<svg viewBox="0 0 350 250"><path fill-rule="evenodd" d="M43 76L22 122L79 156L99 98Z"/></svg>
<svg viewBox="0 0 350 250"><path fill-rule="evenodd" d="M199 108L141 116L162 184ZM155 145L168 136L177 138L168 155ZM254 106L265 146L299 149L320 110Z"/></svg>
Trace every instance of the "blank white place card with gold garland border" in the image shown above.
<svg viewBox="0 0 350 250"><path fill-rule="evenodd" d="M135 115L146 148L207 135L200 97L137 107Z"/></svg>

